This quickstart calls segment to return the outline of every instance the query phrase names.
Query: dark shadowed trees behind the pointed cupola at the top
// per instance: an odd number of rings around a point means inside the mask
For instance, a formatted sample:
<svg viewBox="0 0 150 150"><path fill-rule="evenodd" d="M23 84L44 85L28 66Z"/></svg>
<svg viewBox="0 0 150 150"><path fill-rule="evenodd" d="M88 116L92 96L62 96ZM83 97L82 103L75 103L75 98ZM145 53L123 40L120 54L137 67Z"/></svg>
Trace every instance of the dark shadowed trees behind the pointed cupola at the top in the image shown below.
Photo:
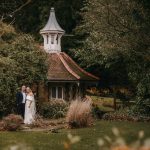
<svg viewBox="0 0 150 150"><path fill-rule="evenodd" d="M26 4L24 6L24 4ZM21 7L24 6L24 7ZM80 20L79 10L83 6L83 0L2 0L0 5L0 18L8 23L14 23L15 28L24 33L32 34L35 39L42 41L40 29L46 24L50 8L54 7L56 17L61 27L67 34ZM18 9L20 8L21 9ZM63 37L63 50L73 45L73 36Z"/></svg>

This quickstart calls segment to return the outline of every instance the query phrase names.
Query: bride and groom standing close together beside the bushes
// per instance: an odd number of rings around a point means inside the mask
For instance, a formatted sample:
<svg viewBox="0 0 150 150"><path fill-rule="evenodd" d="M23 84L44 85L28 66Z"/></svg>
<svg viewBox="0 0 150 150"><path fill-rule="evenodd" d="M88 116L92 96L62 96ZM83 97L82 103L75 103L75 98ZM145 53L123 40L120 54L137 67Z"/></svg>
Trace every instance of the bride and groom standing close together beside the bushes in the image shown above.
<svg viewBox="0 0 150 150"><path fill-rule="evenodd" d="M23 117L24 124L32 124L35 121L36 105L31 88L23 85L16 99L18 114Z"/></svg>

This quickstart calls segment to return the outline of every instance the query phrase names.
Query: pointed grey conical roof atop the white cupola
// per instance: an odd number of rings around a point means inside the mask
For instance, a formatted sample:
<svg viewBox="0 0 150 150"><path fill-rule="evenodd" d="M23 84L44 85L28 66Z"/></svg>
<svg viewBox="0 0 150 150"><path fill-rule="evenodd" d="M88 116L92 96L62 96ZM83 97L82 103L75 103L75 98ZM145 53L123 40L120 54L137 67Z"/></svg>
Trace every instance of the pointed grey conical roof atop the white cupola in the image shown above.
<svg viewBox="0 0 150 150"><path fill-rule="evenodd" d="M47 33L47 32L61 32L61 33L65 32L59 26L59 24L56 20L54 8L51 8L50 16L49 16L47 24L45 25L45 27L42 30L40 30L40 33Z"/></svg>

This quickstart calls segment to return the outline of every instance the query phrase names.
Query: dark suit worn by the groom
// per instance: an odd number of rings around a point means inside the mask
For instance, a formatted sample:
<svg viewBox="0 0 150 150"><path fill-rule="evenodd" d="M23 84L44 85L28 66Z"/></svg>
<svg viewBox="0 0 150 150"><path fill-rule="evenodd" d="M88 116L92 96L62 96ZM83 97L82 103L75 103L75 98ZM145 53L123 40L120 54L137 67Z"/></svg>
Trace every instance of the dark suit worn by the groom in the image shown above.
<svg viewBox="0 0 150 150"><path fill-rule="evenodd" d="M21 115L24 118L25 103L22 103L23 102L23 94L22 94L22 92L18 92L16 94L16 100L17 100L17 111L18 111L18 114Z"/></svg>

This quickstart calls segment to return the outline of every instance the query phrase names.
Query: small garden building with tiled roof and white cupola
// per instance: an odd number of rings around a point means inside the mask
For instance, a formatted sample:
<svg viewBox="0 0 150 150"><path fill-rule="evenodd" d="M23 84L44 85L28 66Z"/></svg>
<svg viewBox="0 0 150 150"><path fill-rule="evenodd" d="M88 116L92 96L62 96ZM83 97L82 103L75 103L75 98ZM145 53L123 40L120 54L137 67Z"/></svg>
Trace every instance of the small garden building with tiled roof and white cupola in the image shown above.
<svg viewBox="0 0 150 150"><path fill-rule="evenodd" d="M80 68L66 53L61 51L61 37L65 31L59 26L54 8L45 27L40 30L44 50L48 53L47 81L39 85L39 98L44 100L81 99L87 86L96 84L99 78Z"/></svg>

